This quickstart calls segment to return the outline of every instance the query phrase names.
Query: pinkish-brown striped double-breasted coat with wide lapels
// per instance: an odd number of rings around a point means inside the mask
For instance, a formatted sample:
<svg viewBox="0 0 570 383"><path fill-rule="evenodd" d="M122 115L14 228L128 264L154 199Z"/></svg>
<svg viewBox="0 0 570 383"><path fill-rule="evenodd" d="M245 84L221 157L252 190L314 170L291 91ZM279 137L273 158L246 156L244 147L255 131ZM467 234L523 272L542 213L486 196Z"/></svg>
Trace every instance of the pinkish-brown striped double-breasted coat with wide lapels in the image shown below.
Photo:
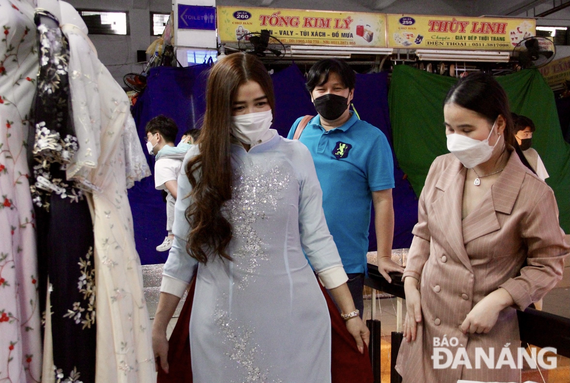
<svg viewBox="0 0 570 383"><path fill-rule="evenodd" d="M417 339L402 341L396 369L404 383L456 383L459 379L518 382L519 370L475 367L475 348L486 355L495 348L495 366L509 344L516 362L520 345L515 307L525 309L542 298L562 277L565 242L552 189L512 152L506 168L481 206L461 219L467 169L453 156L435 159L418 207L418 223L404 272L420 280L422 322ZM473 306L497 288L515 301L499 314L487 334L463 335L459 325ZM452 355L465 347L471 369L434 369L434 338L457 337ZM435 340L437 345L437 340ZM439 362L445 364L446 359Z"/></svg>

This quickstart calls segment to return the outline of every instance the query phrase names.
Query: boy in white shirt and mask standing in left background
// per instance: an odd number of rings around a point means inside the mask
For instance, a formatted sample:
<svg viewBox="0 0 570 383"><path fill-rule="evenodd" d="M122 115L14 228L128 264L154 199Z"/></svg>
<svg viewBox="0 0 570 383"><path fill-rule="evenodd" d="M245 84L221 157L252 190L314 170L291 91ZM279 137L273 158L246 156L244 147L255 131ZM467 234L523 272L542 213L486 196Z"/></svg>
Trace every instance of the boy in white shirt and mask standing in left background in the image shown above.
<svg viewBox="0 0 570 383"><path fill-rule="evenodd" d="M156 156L154 162L154 187L157 190L166 191L166 231L168 235L161 245L156 247L157 251L167 251L172 247L174 234L172 225L174 222L174 203L177 196L177 180L182 166L182 159L190 149L190 145L185 144L182 156L176 155L174 140L178 133L178 127L173 119L160 115L148 121L145 127L146 149L148 154Z"/></svg>

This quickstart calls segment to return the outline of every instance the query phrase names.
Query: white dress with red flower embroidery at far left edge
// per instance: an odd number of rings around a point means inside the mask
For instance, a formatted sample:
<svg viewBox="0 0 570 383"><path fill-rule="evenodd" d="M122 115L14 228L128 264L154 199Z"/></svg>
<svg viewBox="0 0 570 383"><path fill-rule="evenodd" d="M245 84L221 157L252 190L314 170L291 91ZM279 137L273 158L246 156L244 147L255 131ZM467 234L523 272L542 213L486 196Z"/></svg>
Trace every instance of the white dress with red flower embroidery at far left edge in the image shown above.
<svg viewBox="0 0 570 383"><path fill-rule="evenodd" d="M34 214L26 161L38 75L35 2L0 0L0 382L41 379Z"/></svg>

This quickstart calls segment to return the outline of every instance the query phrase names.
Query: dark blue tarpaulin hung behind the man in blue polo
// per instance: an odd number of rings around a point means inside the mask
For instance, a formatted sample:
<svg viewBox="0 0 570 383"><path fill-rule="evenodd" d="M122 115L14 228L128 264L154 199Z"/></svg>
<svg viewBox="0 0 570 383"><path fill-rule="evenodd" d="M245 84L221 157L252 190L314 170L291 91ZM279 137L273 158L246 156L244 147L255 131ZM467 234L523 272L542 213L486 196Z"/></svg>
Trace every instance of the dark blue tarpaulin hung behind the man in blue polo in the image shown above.
<svg viewBox="0 0 570 383"><path fill-rule="evenodd" d="M159 67L151 70L144 93L139 97L133 116L144 146L144 128L154 116L164 114L178 124L178 139L186 129L200 128L200 119L205 111L206 75L209 66L198 65L188 68ZM353 104L361 119L381 129L392 142L388 109L387 74L357 75ZM272 128L287 136L295 120L304 115L315 115L311 97L305 89L305 78L299 67L292 65L272 75L275 89L275 119ZM178 141L177 141L178 142ZM145 148L146 149L146 148ZM148 156L149 165L154 168L153 156ZM404 173L398 168L394 156L394 177L396 189L394 210L396 225L394 248L409 247L412 228L417 222L417 199ZM153 173L154 173L154 169ZM164 263L168 252L157 252L156 246L166 235L166 206L160 192L154 189L153 177L145 178L129 190L129 202L135 224L137 251L143 264ZM339 206L339 213L343 209ZM345 212L352 219L350 212ZM376 234L370 223L370 250L376 250Z"/></svg>

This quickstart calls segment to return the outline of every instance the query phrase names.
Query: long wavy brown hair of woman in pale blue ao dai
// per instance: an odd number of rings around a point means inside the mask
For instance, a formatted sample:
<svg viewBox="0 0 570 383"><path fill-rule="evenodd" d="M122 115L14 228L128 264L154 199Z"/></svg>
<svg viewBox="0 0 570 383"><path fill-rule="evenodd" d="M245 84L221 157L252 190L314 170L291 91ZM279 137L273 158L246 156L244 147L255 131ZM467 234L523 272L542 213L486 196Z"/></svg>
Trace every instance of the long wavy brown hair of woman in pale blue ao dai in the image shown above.
<svg viewBox="0 0 570 383"><path fill-rule="evenodd" d="M273 84L263 63L253 55L236 53L219 59L206 85L206 112L200 134L200 154L188 161L185 172L192 185L192 203L186 209L190 224L186 250L206 263L209 256L231 260L227 254L233 228L223 205L231 199L231 116L239 86L257 82L275 115Z"/></svg>

